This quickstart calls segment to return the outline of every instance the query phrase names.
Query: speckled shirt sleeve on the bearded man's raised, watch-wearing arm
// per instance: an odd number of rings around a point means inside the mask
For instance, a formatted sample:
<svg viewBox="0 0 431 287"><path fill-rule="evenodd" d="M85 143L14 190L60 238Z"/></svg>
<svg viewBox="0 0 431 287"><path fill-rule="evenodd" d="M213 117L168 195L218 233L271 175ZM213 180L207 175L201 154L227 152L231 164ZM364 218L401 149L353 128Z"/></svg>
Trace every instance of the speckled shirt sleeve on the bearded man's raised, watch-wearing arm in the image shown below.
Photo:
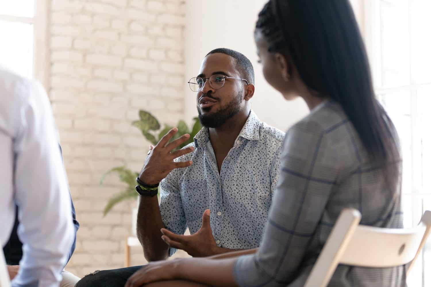
<svg viewBox="0 0 431 287"><path fill-rule="evenodd" d="M160 214L166 229L175 234L184 234L187 228L186 217L181 202L178 186L177 170L173 170L160 183ZM169 256L177 252L176 248L169 248Z"/></svg>

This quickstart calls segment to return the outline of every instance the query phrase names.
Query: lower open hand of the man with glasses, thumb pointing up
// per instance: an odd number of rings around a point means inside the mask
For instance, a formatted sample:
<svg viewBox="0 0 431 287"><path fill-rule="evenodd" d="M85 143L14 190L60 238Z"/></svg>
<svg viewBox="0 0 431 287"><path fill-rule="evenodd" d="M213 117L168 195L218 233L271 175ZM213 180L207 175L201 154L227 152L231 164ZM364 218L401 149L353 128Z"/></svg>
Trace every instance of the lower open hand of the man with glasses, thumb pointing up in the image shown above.
<svg viewBox="0 0 431 287"><path fill-rule="evenodd" d="M193 257L205 257L217 254L219 248L212 236L209 224L209 209L203 212L202 227L193 235L179 235L162 228L162 239L171 247L184 250Z"/></svg>

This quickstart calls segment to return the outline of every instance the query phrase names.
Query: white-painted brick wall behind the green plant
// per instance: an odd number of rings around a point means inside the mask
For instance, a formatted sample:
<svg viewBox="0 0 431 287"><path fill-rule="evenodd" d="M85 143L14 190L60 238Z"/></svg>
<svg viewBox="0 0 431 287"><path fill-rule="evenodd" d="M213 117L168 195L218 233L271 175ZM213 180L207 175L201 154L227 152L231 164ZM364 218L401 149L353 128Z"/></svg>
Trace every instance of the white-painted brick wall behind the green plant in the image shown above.
<svg viewBox="0 0 431 287"><path fill-rule="evenodd" d="M120 268L131 208L103 208L124 187L116 165L139 169L149 143L130 126L139 109L184 118L185 0L51 0L50 99L81 228L67 269ZM136 170L138 171L138 170ZM140 248L132 263L143 264Z"/></svg>

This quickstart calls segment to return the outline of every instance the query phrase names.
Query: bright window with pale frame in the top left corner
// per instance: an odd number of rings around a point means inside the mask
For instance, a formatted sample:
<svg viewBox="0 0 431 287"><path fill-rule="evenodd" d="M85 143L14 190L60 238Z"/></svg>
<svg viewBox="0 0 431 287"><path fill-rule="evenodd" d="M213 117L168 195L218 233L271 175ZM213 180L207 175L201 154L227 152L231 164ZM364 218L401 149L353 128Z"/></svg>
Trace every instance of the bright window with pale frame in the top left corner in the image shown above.
<svg viewBox="0 0 431 287"><path fill-rule="evenodd" d="M0 1L0 65L47 88L47 1Z"/></svg>

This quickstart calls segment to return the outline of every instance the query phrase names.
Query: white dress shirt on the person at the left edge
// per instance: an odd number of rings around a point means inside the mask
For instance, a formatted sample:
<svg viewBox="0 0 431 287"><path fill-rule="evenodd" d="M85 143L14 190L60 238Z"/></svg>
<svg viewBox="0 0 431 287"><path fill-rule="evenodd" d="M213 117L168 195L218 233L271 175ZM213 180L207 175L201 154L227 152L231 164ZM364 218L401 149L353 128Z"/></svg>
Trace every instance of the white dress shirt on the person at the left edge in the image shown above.
<svg viewBox="0 0 431 287"><path fill-rule="evenodd" d="M66 172L43 87L0 67L0 246L19 206L23 243L12 286L54 287L74 239Z"/></svg>

